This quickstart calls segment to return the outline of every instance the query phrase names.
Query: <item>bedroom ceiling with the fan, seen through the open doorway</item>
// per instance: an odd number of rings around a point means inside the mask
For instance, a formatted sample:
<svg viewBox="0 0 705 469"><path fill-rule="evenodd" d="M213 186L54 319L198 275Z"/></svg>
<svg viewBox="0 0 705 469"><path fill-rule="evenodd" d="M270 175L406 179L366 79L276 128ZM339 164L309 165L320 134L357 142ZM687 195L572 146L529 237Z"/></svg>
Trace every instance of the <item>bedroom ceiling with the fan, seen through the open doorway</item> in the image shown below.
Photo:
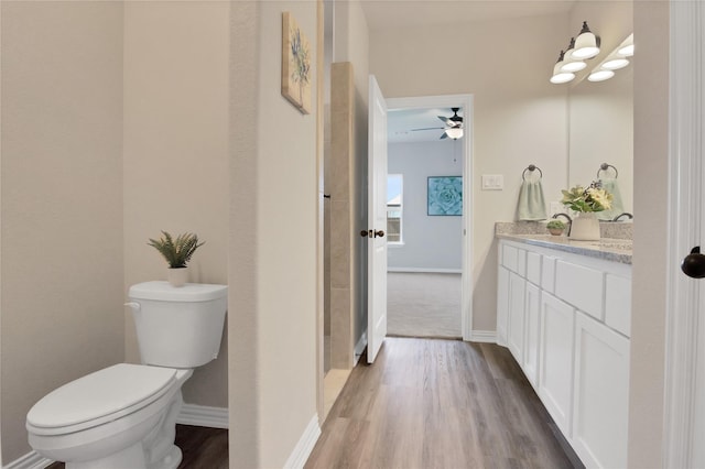
<svg viewBox="0 0 705 469"><path fill-rule="evenodd" d="M435 142L446 128L438 116L449 118L453 111L451 108L390 109L387 117L387 141L389 143ZM463 109L458 111L458 116L463 117ZM463 124L465 126L465 122ZM426 128L433 130L411 130Z"/></svg>

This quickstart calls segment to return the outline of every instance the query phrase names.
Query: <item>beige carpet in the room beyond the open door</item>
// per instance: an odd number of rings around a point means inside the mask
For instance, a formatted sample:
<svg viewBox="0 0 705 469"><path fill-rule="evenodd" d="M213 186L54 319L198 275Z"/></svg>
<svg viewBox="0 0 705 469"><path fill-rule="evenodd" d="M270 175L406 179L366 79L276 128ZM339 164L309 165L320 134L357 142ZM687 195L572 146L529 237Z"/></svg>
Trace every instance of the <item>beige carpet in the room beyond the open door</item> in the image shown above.
<svg viewBox="0 0 705 469"><path fill-rule="evenodd" d="M459 338L460 274L387 274L387 334Z"/></svg>

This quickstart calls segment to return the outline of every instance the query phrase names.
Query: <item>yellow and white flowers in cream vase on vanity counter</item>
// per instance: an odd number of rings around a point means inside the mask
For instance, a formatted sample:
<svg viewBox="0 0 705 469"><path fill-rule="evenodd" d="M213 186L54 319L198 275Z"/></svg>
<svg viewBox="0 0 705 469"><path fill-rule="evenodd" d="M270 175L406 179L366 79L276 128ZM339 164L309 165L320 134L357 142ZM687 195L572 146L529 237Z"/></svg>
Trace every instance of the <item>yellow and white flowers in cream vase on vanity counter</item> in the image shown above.
<svg viewBox="0 0 705 469"><path fill-rule="evenodd" d="M603 188L599 181L594 181L587 188L577 185L570 190L561 192L561 203L578 214L573 219L571 238L584 241L598 240L599 220L595 212L609 210L612 207L612 195Z"/></svg>

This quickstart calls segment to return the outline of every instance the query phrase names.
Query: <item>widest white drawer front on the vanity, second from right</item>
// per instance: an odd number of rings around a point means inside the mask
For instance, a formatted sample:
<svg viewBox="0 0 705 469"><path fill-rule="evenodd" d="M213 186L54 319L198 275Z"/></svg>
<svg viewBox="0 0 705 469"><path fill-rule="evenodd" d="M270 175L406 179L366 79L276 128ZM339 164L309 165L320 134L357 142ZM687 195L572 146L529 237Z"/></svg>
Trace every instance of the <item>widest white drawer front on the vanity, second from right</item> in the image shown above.
<svg viewBox="0 0 705 469"><path fill-rule="evenodd" d="M596 319L604 320L604 276L600 271L557 261L555 295Z"/></svg>

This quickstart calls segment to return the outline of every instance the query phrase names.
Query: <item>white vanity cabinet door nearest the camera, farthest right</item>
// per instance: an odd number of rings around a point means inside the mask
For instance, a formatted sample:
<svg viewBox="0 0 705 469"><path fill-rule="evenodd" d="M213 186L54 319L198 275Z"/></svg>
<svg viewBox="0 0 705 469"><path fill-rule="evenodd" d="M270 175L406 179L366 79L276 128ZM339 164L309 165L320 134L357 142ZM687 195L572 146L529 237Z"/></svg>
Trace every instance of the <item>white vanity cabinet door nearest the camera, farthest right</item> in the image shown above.
<svg viewBox="0 0 705 469"><path fill-rule="evenodd" d="M573 447L585 466L627 467L629 339L575 317Z"/></svg>

